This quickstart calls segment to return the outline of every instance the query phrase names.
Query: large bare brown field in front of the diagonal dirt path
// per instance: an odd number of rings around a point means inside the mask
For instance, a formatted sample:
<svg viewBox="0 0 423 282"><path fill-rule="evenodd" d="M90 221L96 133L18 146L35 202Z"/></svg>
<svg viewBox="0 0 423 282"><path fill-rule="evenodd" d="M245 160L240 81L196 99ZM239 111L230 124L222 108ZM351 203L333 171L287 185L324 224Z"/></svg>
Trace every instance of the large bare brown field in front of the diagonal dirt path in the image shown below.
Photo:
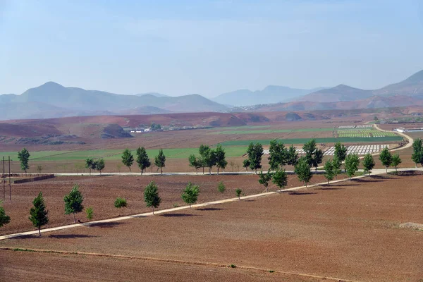
<svg viewBox="0 0 423 282"><path fill-rule="evenodd" d="M37 266L45 262L49 267L42 269L42 275L53 277L51 280L69 279L68 271L73 269L91 275L91 280L116 280L128 269L128 280L145 280L131 279L133 271L140 270L146 271L147 278L158 277L159 281L214 281L214 277L202 275L216 268L205 265L234 264L238 267L216 272L219 281L256 280L254 271L240 266L353 281L422 281L423 232L399 228L400 223L423 223L422 180L423 176L411 173L373 176L212 207L71 228L45 233L41 238L3 240L0 247L138 259L1 250L0 265L4 273L19 274L22 280L39 274ZM149 260L139 258L174 261L149 264ZM154 269L156 273L152 274ZM186 269L191 269L192 279L185 278ZM302 281L302 276L290 280L272 275L263 274L257 280Z"/></svg>

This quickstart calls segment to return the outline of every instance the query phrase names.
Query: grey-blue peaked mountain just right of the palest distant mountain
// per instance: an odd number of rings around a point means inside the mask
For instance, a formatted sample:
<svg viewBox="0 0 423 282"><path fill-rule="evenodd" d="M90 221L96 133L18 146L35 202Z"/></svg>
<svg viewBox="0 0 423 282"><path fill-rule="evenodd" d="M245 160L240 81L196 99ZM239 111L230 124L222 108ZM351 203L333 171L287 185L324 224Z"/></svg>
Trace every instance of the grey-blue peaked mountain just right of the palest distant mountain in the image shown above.
<svg viewBox="0 0 423 282"><path fill-rule="evenodd" d="M372 90L362 90L348 85L337 85L329 89L323 89L307 94L297 101L308 102L343 102L366 99L373 96Z"/></svg>

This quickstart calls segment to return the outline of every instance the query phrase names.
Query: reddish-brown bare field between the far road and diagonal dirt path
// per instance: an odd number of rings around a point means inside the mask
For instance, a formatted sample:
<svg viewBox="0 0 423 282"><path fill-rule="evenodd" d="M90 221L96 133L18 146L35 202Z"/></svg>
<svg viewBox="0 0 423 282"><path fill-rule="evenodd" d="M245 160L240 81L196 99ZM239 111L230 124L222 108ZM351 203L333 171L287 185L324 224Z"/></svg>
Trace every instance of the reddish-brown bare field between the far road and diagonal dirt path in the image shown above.
<svg viewBox="0 0 423 282"><path fill-rule="evenodd" d="M343 177L345 176L339 176L339 178ZM59 176L33 183L15 184L12 185L12 201L7 200L8 187L6 187L6 201L3 206L8 216L11 216L11 223L0 229L0 235L34 229L28 220L28 214L32 201L39 192L43 193L49 210L49 224L45 227L73 223L73 215L64 214L63 197L71 191L75 183L80 185L80 191L85 197L84 206L92 207L94 220L99 220L151 212L151 209L145 207L143 192L145 186L152 180L159 187L162 200L159 208L168 209L185 205L180 195L189 181L200 185L198 203L202 203L236 197L237 188L242 189L245 195L265 192L264 186L259 185L258 179L257 175L203 176L202 174L198 176ZM223 193L217 190L220 181L226 186L226 191ZM314 175L311 183L324 181L324 176ZM287 188L301 185L297 176L288 175ZM269 183L269 190L276 190L276 186ZM1 186L0 192L2 195ZM114 207L116 197L124 197L128 201L128 207L116 209ZM86 221L85 212L77 214L77 219Z"/></svg>

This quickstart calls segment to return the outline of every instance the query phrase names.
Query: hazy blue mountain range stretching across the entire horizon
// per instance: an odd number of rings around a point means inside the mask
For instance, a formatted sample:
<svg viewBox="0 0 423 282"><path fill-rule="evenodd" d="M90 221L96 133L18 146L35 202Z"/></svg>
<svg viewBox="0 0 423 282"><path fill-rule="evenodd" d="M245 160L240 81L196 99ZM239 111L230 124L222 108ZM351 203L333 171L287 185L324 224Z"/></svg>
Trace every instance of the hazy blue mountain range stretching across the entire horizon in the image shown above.
<svg viewBox="0 0 423 282"><path fill-rule="evenodd" d="M233 105L238 107L230 109ZM423 71L377 90L348 85L313 90L269 85L261 91L237 90L214 99L199 94L179 97L155 92L114 94L47 82L20 95L0 95L0 120L204 111L374 109L410 105L423 105Z"/></svg>

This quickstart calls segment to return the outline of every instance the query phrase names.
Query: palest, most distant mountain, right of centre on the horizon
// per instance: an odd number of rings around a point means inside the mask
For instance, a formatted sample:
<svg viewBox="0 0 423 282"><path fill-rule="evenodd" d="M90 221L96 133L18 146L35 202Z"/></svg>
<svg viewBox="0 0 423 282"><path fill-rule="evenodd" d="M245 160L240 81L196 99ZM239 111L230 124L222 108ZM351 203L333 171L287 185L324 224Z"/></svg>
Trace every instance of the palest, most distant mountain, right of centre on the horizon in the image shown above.
<svg viewBox="0 0 423 282"><path fill-rule="evenodd" d="M321 90L315 88L312 90L296 89L286 86L269 85L264 90L251 91L247 89L235 90L220 94L212 100L220 104L233 106L252 106L256 104L272 104L278 102L287 102L302 95Z"/></svg>

